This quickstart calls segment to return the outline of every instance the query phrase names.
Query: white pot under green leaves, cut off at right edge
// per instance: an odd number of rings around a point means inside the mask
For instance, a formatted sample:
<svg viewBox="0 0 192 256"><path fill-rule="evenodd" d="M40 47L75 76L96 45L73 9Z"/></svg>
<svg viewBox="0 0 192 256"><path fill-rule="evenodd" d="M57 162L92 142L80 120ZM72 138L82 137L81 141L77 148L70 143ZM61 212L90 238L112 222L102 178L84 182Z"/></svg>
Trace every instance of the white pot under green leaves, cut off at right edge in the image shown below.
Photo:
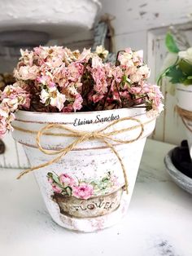
<svg viewBox="0 0 192 256"><path fill-rule="evenodd" d="M192 85L184 86L182 84L178 84L176 87L176 97L177 105L180 108L192 112ZM192 121L185 120L185 123L190 127L190 130L192 130ZM185 133L190 148L190 157L192 159L192 132L190 130L185 127Z"/></svg>

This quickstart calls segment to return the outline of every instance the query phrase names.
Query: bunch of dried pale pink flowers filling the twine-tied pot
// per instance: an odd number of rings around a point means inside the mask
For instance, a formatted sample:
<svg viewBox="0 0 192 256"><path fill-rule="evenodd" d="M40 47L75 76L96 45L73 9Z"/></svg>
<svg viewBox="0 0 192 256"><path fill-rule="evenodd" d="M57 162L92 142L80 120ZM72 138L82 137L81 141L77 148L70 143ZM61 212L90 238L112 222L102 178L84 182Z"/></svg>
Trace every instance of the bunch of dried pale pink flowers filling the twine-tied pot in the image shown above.
<svg viewBox="0 0 192 256"><path fill-rule="evenodd" d="M106 62L107 53L103 46L81 53L63 46L21 50L16 82L0 95L0 135L11 130L17 109L66 113L144 104L160 112L163 95L147 82L142 51L120 51L116 64Z"/></svg>

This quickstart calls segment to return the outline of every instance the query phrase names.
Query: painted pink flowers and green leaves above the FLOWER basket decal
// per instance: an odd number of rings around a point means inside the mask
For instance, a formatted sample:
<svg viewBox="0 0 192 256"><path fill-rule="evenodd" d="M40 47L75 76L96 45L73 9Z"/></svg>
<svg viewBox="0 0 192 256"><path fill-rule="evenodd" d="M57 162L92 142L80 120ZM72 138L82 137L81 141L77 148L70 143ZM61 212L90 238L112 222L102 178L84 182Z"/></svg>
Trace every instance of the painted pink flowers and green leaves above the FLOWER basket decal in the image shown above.
<svg viewBox="0 0 192 256"><path fill-rule="evenodd" d="M119 186L116 175L110 171L102 179L97 180L78 180L68 174L58 175L51 172L47 174L47 178L56 194L85 200L110 193Z"/></svg>

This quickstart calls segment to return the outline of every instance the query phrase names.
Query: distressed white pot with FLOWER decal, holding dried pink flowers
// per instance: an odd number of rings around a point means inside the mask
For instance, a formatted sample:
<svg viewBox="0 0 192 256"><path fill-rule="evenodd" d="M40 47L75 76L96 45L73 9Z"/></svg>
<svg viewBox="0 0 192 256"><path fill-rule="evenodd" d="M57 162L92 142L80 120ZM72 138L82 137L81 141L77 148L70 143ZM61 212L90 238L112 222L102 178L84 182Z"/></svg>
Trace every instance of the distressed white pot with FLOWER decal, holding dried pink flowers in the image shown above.
<svg viewBox="0 0 192 256"><path fill-rule="evenodd" d="M32 113L24 111L16 113L16 119L13 123L15 126L13 137L24 145L24 150L32 166L50 161L54 156L48 156L39 151L36 145L36 135L28 133L24 129L39 130L46 124L59 123L79 131L90 132L107 126L112 119L122 117L135 117L144 124L142 137L137 141L129 144L113 143L124 162L129 182L129 194L126 194L122 189L124 187L124 174L120 161L105 143L98 140L89 140L78 144L61 161L34 171L47 210L60 226L82 232L94 232L110 227L126 214L146 137L155 128L155 117L146 115L145 108L123 108L91 113ZM126 120L119 122L107 131L137 125L137 121ZM18 128L22 128L23 131L18 130ZM51 131L54 133L62 132L59 129ZM137 126L135 130L126 131L116 135L115 138L135 139L140 131L141 127ZM41 145L47 149L59 149L66 147L73 140L72 137L61 135L54 137L42 135ZM55 172L58 175L68 174L80 182L99 183L100 187L97 187L94 196L87 200L76 198L76 196L62 198L53 192L47 179L48 172ZM103 177L109 174L110 182L105 188L105 185L103 187L105 181Z"/></svg>

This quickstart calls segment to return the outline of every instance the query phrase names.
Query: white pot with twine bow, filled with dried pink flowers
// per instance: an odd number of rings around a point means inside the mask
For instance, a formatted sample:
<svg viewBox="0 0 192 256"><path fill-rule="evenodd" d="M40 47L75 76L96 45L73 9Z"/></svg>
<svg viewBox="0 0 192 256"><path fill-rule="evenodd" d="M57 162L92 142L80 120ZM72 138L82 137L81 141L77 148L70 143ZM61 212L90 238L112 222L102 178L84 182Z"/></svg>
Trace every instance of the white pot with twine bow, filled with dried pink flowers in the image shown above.
<svg viewBox="0 0 192 256"><path fill-rule="evenodd" d="M142 51L116 64L98 46L21 51L15 83L1 93L0 134L23 144L52 218L91 232L116 223L129 205L146 137L163 109L147 82Z"/></svg>

